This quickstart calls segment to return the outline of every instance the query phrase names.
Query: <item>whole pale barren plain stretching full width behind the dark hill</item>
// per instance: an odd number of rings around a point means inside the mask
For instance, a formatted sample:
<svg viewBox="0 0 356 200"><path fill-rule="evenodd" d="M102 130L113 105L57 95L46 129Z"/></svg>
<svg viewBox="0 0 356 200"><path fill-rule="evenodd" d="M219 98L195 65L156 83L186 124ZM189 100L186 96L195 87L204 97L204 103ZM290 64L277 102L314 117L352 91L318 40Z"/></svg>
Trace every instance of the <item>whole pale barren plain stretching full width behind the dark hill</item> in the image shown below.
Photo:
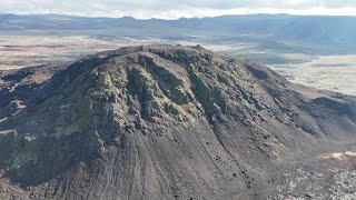
<svg viewBox="0 0 356 200"><path fill-rule="evenodd" d="M356 54L312 56L280 53L261 49L258 42L211 42L118 37L102 39L89 36L0 36L0 70L20 69L56 62L73 61L99 51L125 46L196 44L230 56L248 56L265 62L290 81L318 89L356 96Z"/></svg>

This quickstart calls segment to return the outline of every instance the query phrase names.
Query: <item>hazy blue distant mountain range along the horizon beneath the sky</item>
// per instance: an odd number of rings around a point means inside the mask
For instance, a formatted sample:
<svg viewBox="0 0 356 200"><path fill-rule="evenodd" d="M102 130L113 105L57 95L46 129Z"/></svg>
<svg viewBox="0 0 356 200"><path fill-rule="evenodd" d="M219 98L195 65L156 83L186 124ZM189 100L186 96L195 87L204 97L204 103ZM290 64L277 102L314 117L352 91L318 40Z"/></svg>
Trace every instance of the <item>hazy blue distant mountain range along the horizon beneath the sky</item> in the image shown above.
<svg viewBox="0 0 356 200"><path fill-rule="evenodd" d="M179 39L185 36L249 36L323 44L356 44L356 17L247 14L177 20L0 14L0 31L92 31Z"/></svg>

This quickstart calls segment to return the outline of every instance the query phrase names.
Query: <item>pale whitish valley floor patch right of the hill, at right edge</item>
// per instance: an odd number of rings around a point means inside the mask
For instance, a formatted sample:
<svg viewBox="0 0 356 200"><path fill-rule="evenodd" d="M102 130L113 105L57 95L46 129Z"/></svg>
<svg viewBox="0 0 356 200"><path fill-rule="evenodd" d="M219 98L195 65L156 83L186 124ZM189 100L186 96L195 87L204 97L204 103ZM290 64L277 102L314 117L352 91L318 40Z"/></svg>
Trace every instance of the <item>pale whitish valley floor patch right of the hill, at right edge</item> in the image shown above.
<svg viewBox="0 0 356 200"><path fill-rule="evenodd" d="M319 56L297 64L269 64L296 83L356 96L356 54Z"/></svg>

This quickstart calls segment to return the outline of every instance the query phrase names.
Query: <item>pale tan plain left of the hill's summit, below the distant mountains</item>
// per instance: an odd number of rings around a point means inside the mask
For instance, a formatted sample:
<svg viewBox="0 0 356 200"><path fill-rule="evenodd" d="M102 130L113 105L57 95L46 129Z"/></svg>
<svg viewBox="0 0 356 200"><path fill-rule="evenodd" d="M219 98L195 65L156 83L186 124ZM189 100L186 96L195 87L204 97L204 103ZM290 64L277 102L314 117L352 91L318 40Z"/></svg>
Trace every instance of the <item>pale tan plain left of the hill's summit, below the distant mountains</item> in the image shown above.
<svg viewBox="0 0 356 200"><path fill-rule="evenodd" d="M129 38L106 41L86 36L0 36L0 70L73 61L87 54L127 44L154 42Z"/></svg>

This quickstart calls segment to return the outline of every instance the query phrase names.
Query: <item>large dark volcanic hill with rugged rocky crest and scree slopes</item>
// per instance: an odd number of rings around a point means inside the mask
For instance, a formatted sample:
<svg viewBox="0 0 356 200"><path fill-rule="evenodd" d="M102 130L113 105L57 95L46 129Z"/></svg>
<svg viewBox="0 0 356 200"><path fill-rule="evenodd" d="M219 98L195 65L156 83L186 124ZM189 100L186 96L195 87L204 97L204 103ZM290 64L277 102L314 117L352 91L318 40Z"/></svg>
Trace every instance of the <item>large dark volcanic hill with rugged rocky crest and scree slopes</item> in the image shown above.
<svg viewBox="0 0 356 200"><path fill-rule="evenodd" d="M199 46L101 52L0 90L0 198L263 198L355 141L355 102Z"/></svg>

